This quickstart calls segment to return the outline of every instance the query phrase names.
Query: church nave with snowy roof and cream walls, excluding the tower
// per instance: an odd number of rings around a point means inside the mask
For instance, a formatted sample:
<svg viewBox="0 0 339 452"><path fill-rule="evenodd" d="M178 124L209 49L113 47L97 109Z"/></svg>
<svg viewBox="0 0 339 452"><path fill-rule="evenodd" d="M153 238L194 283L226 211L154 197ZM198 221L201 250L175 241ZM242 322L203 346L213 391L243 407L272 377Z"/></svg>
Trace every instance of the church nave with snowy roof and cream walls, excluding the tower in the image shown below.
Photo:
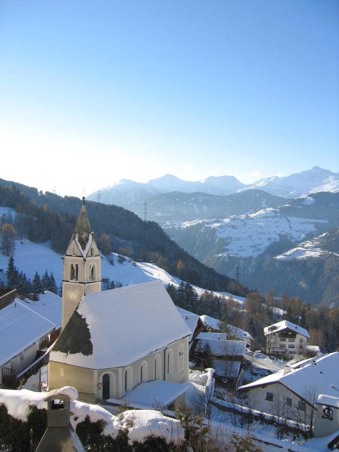
<svg viewBox="0 0 339 452"><path fill-rule="evenodd" d="M152 380L183 383L190 335L161 281L84 295L51 352L49 387L94 401Z"/></svg>

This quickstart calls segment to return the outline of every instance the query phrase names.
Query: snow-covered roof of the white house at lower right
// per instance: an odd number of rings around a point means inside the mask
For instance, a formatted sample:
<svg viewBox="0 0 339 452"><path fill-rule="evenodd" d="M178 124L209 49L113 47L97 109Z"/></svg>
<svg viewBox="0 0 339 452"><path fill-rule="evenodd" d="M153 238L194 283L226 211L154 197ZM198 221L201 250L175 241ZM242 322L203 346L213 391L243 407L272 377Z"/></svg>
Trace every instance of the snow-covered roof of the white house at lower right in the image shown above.
<svg viewBox="0 0 339 452"><path fill-rule="evenodd" d="M296 363L298 364L298 363ZM308 388L314 387L317 395L328 394L337 397L339 352L321 355L304 362L301 367L293 368L284 374L284 370L268 375L255 382L241 386L238 390L248 390L257 386L281 383L291 391L303 397Z"/></svg>

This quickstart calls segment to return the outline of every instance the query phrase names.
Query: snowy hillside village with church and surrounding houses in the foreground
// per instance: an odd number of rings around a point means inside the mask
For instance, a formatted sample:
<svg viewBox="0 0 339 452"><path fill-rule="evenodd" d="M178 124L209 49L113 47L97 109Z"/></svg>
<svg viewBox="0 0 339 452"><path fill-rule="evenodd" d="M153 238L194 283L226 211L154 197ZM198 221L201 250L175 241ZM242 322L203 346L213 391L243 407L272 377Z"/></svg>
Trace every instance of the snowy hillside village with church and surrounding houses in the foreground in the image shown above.
<svg viewBox="0 0 339 452"><path fill-rule="evenodd" d="M105 442L115 450L124 428L129 444L146 443L150 436L180 444L190 425L180 423L187 409L206 450L208 438L220 450L232 437L248 441L248 450L328 450L339 443L337 343L329 349L331 338L301 326L288 300L279 307L273 297L255 292L247 298L207 292L152 263L120 254L110 259L116 260L113 266L100 253L83 199L59 261L60 292L50 277L40 284L36 277L31 293L2 278L0 339L8 346L0 360L0 415L28 422L28 406L39 413L47 409L43 439L44 431L34 433L37 450L55 440L50 419L57 419L57 399L70 409L60 424L65 438L72 444L77 435L81 439L70 450L91 447L94 436L86 439L83 428L92 432L98 421L105 426L96 450L106 450ZM109 267L117 288L102 275ZM7 276L13 268L20 276L11 259ZM124 272L151 270L156 276L149 282L122 283ZM251 309L266 312L261 331L251 324ZM57 428L59 421L53 422ZM216 440L217 426L222 434ZM200 450L194 441L191 447Z"/></svg>

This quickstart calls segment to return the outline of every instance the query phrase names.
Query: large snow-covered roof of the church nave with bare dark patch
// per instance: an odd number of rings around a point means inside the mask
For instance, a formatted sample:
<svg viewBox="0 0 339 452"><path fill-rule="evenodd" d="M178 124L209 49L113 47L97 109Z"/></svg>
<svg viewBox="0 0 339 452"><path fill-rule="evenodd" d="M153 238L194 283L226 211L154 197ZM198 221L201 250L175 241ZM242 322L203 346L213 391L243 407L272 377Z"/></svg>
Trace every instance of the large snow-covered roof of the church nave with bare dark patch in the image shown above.
<svg viewBox="0 0 339 452"><path fill-rule="evenodd" d="M85 367L124 367L189 336L161 281L85 295L50 354Z"/></svg>

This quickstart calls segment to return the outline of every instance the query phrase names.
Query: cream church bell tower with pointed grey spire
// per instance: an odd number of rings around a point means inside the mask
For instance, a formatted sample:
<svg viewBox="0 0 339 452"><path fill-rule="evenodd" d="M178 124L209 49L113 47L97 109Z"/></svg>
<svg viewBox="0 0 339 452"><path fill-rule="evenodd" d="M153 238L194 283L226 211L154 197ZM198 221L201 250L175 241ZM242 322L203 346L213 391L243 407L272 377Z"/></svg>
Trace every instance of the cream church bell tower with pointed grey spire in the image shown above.
<svg viewBox="0 0 339 452"><path fill-rule="evenodd" d="M63 257L62 328L83 295L101 290L101 256L91 231L85 198L71 242Z"/></svg>

